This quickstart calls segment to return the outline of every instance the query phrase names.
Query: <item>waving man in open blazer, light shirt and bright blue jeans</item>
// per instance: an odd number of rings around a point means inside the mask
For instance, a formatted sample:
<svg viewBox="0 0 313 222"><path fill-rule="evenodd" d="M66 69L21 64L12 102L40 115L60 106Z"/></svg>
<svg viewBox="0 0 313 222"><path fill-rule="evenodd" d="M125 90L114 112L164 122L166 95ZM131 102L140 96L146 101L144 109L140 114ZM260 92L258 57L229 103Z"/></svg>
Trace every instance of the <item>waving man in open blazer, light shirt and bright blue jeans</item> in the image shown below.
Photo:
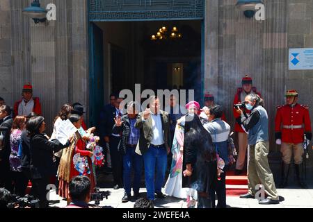
<svg viewBox="0 0 313 222"><path fill-rule="evenodd" d="M141 130L138 146L145 164L145 186L149 200L154 200L154 193L158 198L164 198L161 188L166 173L167 155L170 152L170 121L168 113L159 110L159 102L157 96L151 96L150 109L141 112L135 124Z"/></svg>

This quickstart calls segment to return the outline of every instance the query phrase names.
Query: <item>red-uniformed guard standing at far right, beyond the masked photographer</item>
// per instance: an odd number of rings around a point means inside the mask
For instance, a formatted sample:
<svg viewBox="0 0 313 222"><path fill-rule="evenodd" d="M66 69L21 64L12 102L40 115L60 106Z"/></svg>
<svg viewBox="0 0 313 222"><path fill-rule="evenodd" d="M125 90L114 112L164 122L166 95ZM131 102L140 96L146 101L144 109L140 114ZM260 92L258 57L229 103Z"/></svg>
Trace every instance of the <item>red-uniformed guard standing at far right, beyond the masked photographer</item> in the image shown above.
<svg viewBox="0 0 313 222"><path fill-rule="evenodd" d="M298 184L300 187L306 188L307 186L301 176L303 175L304 135L308 140L312 139L309 108L307 105L297 103L298 92L296 90L288 90L285 96L287 104L278 106L275 117L276 144L281 144L280 152L282 153L282 181L280 187L287 186L291 156L294 154Z"/></svg>

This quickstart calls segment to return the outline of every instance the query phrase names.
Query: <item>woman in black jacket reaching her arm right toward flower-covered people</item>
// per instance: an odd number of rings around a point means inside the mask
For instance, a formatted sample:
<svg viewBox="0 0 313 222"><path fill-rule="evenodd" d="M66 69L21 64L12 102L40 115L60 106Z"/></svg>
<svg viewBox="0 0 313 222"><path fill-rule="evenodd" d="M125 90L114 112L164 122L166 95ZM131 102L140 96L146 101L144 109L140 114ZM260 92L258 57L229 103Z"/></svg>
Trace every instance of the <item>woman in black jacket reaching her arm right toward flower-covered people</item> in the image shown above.
<svg viewBox="0 0 313 222"><path fill-rule="evenodd" d="M35 193L40 200L41 208L49 207L47 185L49 185L49 178L54 176L53 152L70 146L70 141L67 141L65 145L57 139L50 142L47 135L43 134L45 125L44 117L32 117L26 123L26 130L31 137L31 178L33 178Z"/></svg>

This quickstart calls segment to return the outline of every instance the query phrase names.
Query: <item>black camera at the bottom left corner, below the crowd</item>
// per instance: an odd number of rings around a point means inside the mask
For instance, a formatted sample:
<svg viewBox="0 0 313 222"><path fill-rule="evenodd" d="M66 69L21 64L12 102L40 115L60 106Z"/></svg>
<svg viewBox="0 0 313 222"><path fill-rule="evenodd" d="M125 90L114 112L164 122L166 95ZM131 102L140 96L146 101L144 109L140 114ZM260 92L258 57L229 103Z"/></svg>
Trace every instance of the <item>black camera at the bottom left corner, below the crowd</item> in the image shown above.
<svg viewBox="0 0 313 222"><path fill-rule="evenodd" d="M38 199L33 196L25 195L19 197L17 195L11 195L11 200L8 203L8 208L40 208Z"/></svg>

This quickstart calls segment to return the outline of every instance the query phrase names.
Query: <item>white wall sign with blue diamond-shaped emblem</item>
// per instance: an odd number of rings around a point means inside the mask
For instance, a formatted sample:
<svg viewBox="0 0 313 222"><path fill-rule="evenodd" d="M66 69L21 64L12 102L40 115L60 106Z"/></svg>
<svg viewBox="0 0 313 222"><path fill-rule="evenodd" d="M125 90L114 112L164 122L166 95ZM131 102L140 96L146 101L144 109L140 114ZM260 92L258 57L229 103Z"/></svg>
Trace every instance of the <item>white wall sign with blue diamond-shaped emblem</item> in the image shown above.
<svg viewBox="0 0 313 222"><path fill-rule="evenodd" d="M313 49L289 49L289 70L313 69Z"/></svg>

